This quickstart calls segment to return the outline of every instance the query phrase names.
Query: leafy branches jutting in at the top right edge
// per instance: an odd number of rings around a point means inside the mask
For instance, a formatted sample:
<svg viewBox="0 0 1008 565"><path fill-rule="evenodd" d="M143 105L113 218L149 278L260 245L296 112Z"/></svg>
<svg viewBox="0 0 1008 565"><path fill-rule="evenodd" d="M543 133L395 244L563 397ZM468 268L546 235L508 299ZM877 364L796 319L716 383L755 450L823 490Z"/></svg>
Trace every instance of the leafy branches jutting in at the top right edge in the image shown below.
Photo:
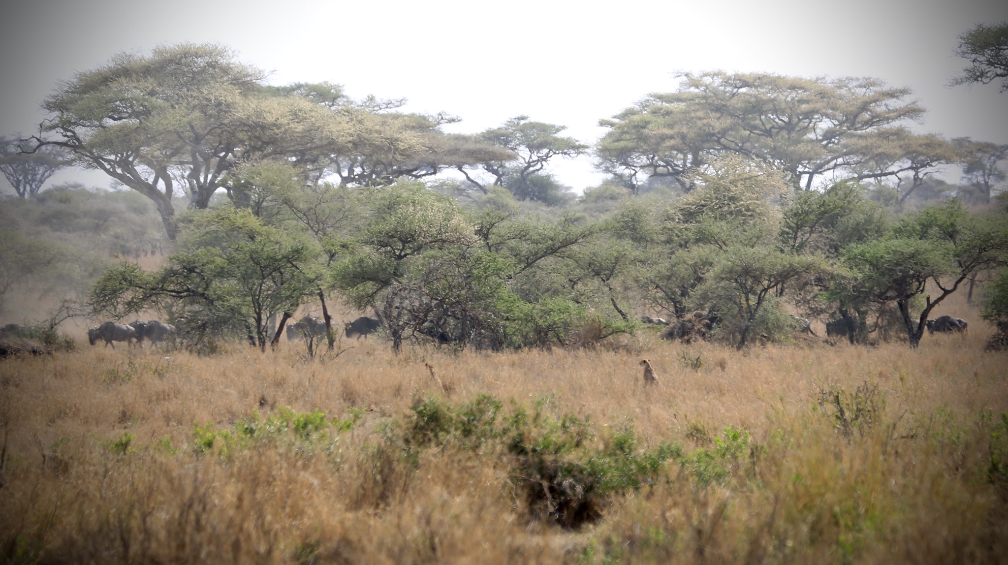
<svg viewBox="0 0 1008 565"><path fill-rule="evenodd" d="M970 61L953 85L989 85L1001 81L1001 92L1008 92L1008 21L978 24L959 36L955 53Z"/></svg>

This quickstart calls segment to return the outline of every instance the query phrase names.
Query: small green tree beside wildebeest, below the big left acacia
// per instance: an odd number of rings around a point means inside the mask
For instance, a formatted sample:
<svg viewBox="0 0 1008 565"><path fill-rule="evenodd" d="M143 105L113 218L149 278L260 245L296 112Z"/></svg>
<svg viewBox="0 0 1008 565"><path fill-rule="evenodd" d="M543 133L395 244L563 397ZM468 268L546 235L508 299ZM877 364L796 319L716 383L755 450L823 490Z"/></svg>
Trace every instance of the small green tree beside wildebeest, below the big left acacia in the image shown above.
<svg viewBox="0 0 1008 565"><path fill-rule="evenodd" d="M168 310L195 343L244 334L262 350L269 342L270 316L282 313L275 345L286 321L317 288L311 265L318 248L234 208L197 215L183 235L179 251L155 273L132 263L107 271L95 284L92 310L121 318L156 306Z"/></svg>

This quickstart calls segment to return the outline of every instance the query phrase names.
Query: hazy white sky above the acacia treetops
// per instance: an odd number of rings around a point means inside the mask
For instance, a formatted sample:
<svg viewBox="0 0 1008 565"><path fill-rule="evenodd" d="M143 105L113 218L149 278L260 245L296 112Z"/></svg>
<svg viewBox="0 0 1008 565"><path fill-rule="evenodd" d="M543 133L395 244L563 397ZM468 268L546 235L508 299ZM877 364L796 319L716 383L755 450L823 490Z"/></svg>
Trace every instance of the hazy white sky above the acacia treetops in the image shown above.
<svg viewBox="0 0 1008 565"><path fill-rule="evenodd" d="M0 134L35 129L56 81L116 51L214 41L274 83L405 97L461 117L459 132L527 114L591 143L599 119L673 90L673 72L721 68L881 78L913 89L929 110L921 130L1008 143L1008 93L946 86L965 63L957 35L1005 19L994 0L0 0ZM601 179L588 159L554 172L578 190ZM74 177L107 184L55 180Z"/></svg>

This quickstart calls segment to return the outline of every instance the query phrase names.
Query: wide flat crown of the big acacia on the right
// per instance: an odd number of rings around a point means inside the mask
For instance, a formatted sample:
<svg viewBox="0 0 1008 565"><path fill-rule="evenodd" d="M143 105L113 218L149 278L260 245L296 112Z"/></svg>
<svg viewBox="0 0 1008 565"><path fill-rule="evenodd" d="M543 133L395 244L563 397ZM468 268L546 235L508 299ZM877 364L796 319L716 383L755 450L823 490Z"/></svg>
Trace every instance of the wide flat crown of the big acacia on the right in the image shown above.
<svg viewBox="0 0 1008 565"><path fill-rule="evenodd" d="M650 95L600 121L610 130L596 148L600 166L633 192L648 176L670 177L688 190L691 172L725 153L763 161L784 171L794 188L808 189L827 175L854 176L889 129L924 113L905 102L909 89L876 79L680 77L676 92Z"/></svg>

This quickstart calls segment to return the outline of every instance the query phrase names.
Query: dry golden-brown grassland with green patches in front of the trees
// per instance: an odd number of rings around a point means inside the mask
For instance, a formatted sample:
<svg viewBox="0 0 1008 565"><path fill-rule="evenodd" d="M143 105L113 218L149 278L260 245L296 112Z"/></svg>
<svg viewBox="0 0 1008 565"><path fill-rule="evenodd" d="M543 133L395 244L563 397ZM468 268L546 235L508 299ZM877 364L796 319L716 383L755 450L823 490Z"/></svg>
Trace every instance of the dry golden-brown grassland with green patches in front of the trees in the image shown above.
<svg viewBox="0 0 1008 565"><path fill-rule="evenodd" d="M916 349L739 351L648 329L581 350L396 356L371 338L329 360L293 343L11 359L0 555L1000 562L1008 357L984 352L961 297L948 307L970 333Z"/></svg>

